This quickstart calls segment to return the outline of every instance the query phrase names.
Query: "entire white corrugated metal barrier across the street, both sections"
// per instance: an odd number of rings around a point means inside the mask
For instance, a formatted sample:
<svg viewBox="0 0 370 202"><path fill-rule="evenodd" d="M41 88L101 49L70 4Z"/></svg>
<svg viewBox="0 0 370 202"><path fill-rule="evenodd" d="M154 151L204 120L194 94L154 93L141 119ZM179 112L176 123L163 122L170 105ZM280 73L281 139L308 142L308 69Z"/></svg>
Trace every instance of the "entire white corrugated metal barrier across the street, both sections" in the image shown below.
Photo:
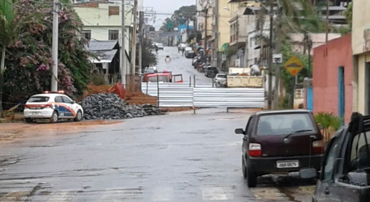
<svg viewBox="0 0 370 202"><path fill-rule="evenodd" d="M161 107L263 108L263 88L216 88L212 83L142 83L142 92L158 97Z"/></svg>

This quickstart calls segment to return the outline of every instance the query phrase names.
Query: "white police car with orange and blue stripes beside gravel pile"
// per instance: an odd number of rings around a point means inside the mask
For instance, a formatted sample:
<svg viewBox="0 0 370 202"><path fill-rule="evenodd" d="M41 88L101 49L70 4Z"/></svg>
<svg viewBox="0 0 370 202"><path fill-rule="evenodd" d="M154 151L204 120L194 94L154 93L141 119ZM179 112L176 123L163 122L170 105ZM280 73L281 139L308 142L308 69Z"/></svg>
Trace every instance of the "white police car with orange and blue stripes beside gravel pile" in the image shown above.
<svg viewBox="0 0 370 202"><path fill-rule="evenodd" d="M27 123L38 119L49 119L50 123L56 123L60 119L81 121L83 109L81 105L64 95L64 91L43 92L27 101L23 115Z"/></svg>

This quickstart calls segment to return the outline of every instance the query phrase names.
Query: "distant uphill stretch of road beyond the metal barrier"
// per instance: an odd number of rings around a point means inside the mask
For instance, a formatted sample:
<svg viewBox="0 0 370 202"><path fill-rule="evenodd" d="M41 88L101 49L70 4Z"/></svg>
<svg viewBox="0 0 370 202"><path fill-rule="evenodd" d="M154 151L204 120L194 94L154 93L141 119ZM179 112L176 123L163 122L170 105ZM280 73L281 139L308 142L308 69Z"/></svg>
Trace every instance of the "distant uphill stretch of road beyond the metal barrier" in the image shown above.
<svg viewBox="0 0 370 202"><path fill-rule="evenodd" d="M191 76L193 81L193 76L195 75L196 82L212 83L212 78L206 77L204 73L199 73L191 66L191 59L185 58L182 54L181 51L178 52L177 47L164 47L164 50L158 50L158 71L167 70L172 71L173 74L183 74L184 82L189 81L189 76ZM164 62L167 55L171 57L171 62Z"/></svg>

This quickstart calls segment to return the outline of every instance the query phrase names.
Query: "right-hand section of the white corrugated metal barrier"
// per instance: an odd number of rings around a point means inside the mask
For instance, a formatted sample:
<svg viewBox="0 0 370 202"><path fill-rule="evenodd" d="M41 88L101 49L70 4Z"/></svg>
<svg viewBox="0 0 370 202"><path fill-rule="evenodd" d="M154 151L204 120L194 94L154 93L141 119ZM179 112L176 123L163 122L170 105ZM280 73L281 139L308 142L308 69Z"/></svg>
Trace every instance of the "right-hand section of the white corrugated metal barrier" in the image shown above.
<svg viewBox="0 0 370 202"><path fill-rule="evenodd" d="M194 88L196 107L263 108L263 88Z"/></svg>

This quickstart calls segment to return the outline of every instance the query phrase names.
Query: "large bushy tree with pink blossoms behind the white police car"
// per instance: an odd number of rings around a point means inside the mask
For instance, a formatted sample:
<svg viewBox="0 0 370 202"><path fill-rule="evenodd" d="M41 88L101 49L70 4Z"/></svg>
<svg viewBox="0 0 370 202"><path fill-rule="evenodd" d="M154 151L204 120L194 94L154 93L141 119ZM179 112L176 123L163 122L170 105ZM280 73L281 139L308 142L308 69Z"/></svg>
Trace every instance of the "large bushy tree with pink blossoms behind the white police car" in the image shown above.
<svg viewBox="0 0 370 202"><path fill-rule="evenodd" d="M93 65L88 58L95 56L85 49L87 41L80 38L81 20L63 3L59 11L58 87L69 96L79 96L90 82ZM19 38L7 46L4 87L13 97L27 98L50 90L53 8L43 1L18 0L14 4L22 7L16 9L16 16L23 15L28 21L19 24Z"/></svg>

